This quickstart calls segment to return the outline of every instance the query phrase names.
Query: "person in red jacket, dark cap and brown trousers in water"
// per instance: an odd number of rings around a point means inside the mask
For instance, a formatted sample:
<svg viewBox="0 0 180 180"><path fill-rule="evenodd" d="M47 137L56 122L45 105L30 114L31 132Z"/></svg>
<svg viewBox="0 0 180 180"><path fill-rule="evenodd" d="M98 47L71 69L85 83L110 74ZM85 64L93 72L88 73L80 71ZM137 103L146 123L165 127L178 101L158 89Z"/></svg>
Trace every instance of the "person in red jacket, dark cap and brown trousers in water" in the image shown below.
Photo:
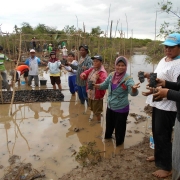
<svg viewBox="0 0 180 180"><path fill-rule="evenodd" d="M87 80L88 105L96 116L97 121L100 121L103 111L103 97L106 91L95 89L93 84L104 82L107 72L102 65L103 59L100 55L93 56L91 59L93 60L93 67L81 73L80 77L83 80Z"/></svg>

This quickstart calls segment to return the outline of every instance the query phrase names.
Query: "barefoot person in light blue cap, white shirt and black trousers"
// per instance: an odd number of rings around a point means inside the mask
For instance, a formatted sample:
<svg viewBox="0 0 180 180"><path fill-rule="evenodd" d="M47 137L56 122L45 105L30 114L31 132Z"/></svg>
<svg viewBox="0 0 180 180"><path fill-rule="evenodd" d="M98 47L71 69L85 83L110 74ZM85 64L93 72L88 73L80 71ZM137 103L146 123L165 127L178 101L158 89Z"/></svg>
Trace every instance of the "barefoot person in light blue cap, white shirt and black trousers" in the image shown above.
<svg viewBox="0 0 180 180"><path fill-rule="evenodd" d="M159 79L177 82L180 74L180 34L170 34L162 44L165 48L166 57L161 59L154 72L157 73L157 78ZM149 73L144 73L144 75L146 78L150 78ZM152 131L155 149L154 156L148 157L147 161L155 161L155 165L159 168L153 173L154 176L165 178L172 174L172 165L173 169L179 166L174 156L172 164L171 140L177 112L176 104L174 101L166 98L161 101L153 101L152 91L144 92L143 95L149 95L146 103L153 107ZM180 169L178 170L180 171Z"/></svg>

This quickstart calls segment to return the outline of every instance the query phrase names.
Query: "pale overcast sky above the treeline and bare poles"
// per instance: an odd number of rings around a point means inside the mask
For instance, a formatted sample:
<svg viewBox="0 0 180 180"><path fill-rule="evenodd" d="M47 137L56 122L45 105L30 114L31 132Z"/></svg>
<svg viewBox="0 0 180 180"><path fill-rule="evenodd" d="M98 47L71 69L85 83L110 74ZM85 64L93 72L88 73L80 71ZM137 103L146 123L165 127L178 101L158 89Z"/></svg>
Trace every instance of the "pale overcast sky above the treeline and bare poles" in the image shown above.
<svg viewBox="0 0 180 180"><path fill-rule="evenodd" d="M125 31L127 36L126 16L128 20L128 37L133 30L134 38L151 38L155 36L155 17L162 0L4 0L1 1L0 24L3 32L12 32L16 24L28 22L32 27L39 23L62 30L66 25L82 28L86 31L100 26L107 30L109 7L110 20L113 20L113 35L116 23L118 30ZM177 8L179 0L171 0ZM179 6L180 7L180 6ZM126 16L125 16L126 14ZM77 18L76 18L77 17ZM78 23L77 23L78 19ZM164 22L173 25L177 18L172 14L158 13L157 32ZM117 33L118 34L118 33Z"/></svg>

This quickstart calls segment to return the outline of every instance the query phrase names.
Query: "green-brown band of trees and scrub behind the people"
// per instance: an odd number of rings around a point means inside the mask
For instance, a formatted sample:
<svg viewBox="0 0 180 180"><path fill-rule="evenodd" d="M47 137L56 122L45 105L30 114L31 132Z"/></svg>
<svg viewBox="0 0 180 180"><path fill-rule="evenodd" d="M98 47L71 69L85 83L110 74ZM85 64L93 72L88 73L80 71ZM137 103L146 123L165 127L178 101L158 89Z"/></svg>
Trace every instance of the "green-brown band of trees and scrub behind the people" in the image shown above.
<svg viewBox="0 0 180 180"><path fill-rule="evenodd" d="M30 42L34 37L41 49L44 42L53 44L54 48L65 43L69 50L72 46L78 49L80 44L87 44L92 55L101 54L105 62L109 63L118 55L133 55L134 48L154 44L151 39L124 38L123 32L121 32L121 37L109 38L106 37L99 26L92 28L91 32L88 33L85 32L85 29L77 30L74 26L66 26L64 29L58 30L45 24L38 24L33 28L29 23L24 22L21 27L15 25L12 34L0 36L0 44L4 47L6 53L17 54L20 33L22 34L21 49L23 51L29 50Z"/></svg>

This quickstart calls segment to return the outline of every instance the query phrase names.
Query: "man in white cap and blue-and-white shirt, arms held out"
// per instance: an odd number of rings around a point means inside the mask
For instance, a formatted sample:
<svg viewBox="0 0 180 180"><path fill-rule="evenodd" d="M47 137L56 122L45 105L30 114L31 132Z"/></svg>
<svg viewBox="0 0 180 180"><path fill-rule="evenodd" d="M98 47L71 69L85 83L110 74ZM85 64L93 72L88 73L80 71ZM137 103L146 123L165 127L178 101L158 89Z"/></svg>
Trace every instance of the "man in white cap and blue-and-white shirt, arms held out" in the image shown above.
<svg viewBox="0 0 180 180"><path fill-rule="evenodd" d="M39 64L46 64L45 62L41 61L38 57L35 56L35 50L30 50L30 55L25 62L20 62L19 65L27 65L29 66L29 75L28 75L28 85L30 86L32 80L34 79L35 86L39 86L39 77L38 77L38 65Z"/></svg>

